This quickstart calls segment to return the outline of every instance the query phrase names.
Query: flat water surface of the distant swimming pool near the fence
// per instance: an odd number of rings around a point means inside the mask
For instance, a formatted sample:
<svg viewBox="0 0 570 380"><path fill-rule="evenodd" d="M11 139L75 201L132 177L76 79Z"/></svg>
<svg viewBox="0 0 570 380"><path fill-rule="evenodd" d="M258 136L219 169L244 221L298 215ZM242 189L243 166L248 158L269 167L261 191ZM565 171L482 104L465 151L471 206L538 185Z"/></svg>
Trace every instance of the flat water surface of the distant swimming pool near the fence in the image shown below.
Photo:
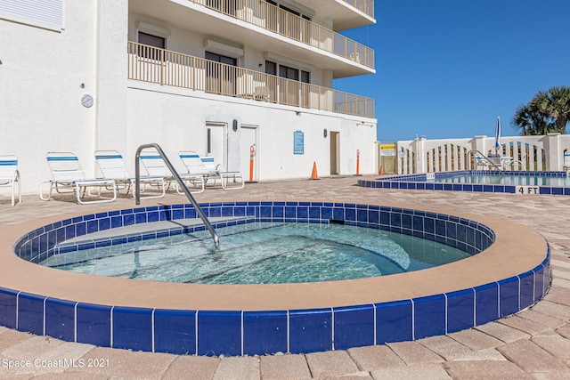
<svg viewBox="0 0 570 380"><path fill-rule="evenodd" d="M443 183L482 183L515 186L562 186L570 187L567 176L525 175L525 174L460 174L436 178L433 182Z"/></svg>

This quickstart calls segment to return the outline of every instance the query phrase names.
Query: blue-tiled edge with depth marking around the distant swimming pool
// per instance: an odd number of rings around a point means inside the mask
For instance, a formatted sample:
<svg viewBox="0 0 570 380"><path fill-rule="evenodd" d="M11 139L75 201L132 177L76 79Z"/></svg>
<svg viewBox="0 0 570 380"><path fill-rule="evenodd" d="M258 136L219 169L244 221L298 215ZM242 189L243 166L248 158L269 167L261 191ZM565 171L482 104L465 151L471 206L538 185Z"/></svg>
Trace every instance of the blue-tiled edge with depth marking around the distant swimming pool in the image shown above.
<svg viewBox="0 0 570 380"><path fill-rule="evenodd" d="M515 185L495 185L483 183L444 183L428 182L428 176L432 178L446 178L458 174L496 174L488 170L469 170L460 172L444 172L432 174L398 175L393 177L380 177L376 180L359 180L358 186L376 189L401 189L401 190L438 190L438 191L472 191L472 192L498 192L515 194ZM541 176L566 177L566 172L522 172ZM517 175L521 172L503 172L504 175ZM570 187L561 186L532 186L538 188L538 194L542 195L570 195Z"/></svg>

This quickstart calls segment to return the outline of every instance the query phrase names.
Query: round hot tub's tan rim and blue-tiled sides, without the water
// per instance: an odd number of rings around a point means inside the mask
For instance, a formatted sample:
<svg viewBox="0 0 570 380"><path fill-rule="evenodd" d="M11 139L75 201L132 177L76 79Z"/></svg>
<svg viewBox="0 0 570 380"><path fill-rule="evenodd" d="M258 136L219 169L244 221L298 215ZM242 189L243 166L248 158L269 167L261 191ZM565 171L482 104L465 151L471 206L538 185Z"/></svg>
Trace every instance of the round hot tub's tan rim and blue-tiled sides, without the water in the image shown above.
<svg viewBox="0 0 570 380"><path fill-rule="evenodd" d="M433 240L471 256L391 276L266 285L134 281L37 265L53 255L205 230L191 205L69 214L0 230L0 324L64 341L134 351L322 352L482 325L536 303L550 286L549 246L537 232L460 210L443 213L322 201L201 206L220 229L247 220L342 221ZM196 222L181 222L192 219ZM170 227L120 236L113 231L159 227L161 222ZM85 239L87 234L102 233L106 235ZM63 244L70 239L75 243Z"/></svg>

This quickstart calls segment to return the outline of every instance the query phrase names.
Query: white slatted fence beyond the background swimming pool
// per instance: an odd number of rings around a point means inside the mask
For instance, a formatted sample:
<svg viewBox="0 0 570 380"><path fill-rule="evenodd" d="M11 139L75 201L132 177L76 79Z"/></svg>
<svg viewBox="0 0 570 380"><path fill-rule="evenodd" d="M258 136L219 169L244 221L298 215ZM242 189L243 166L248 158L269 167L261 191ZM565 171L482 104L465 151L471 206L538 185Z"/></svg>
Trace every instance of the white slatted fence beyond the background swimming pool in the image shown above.
<svg viewBox="0 0 570 380"><path fill-rule="evenodd" d="M502 148L494 149L494 137L396 142L396 173L425 174L475 170L476 157L499 153L512 158L512 170L562 171L570 158L570 135L549 133L545 136L501 137ZM566 164L565 164L566 153ZM566 165L566 166L565 166ZM480 167L478 167L480 168Z"/></svg>

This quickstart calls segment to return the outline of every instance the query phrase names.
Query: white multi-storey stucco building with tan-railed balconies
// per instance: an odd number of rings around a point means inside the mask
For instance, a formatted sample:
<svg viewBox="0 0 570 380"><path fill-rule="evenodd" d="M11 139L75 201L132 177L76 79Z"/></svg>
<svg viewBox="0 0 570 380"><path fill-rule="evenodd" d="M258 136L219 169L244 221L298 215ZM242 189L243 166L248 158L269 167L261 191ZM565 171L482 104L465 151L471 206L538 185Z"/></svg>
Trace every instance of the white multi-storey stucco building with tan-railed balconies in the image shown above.
<svg viewBox="0 0 570 380"><path fill-rule="evenodd" d="M256 181L378 170L374 101L333 89L372 74L374 52L338 31L375 23L373 0L4 0L0 153L24 192L47 151L156 142L208 153Z"/></svg>

